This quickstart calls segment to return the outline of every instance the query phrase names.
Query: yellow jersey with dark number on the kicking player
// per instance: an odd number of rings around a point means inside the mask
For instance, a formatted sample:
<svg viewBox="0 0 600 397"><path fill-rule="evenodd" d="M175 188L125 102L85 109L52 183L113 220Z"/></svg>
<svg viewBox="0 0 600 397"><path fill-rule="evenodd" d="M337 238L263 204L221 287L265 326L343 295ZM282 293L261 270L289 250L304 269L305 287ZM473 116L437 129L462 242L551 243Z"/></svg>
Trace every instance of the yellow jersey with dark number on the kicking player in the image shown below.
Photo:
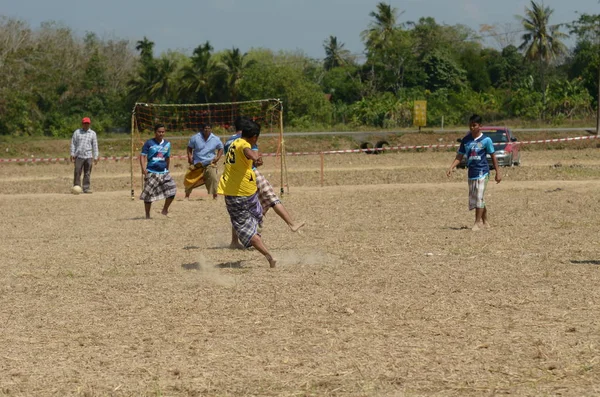
<svg viewBox="0 0 600 397"><path fill-rule="evenodd" d="M218 194L225 196L252 196L256 193L256 174L252 160L246 158L244 149L252 149L245 139L238 138L225 155L225 170L219 180Z"/></svg>

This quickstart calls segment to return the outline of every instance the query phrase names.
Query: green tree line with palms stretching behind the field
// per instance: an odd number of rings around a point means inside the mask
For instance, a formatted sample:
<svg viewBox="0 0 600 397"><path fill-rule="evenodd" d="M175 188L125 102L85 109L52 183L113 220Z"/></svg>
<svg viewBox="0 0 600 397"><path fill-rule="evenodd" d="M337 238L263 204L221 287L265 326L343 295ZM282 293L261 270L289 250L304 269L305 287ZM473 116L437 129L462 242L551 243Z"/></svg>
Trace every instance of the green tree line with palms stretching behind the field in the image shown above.
<svg viewBox="0 0 600 397"><path fill-rule="evenodd" d="M364 52L351 54L330 36L323 59L260 47L215 52L209 41L191 55L157 55L146 37L132 45L0 17L0 135L68 136L83 115L100 132L126 129L135 102L281 98L284 122L296 129L407 127L415 100L428 101L428 125L461 124L472 113L551 123L595 115L600 14L559 24L531 1L518 35L402 15L377 4L361 33Z"/></svg>

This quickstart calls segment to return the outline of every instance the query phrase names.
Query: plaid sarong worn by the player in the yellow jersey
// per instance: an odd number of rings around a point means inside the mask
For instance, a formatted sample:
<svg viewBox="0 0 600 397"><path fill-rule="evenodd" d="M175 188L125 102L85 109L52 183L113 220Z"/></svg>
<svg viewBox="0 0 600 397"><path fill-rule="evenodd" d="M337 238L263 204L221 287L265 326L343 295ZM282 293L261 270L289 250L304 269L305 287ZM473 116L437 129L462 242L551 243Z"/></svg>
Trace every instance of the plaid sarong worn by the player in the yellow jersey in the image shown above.
<svg viewBox="0 0 600 397"><path fill-rule="evenodd" d="M262 222L262 207L258 201L258 193L252 196L225 196L225 205L231 225L244 247L249 247L250 239L258 233ZM259 234L260 235L260 234Z"/></svg>

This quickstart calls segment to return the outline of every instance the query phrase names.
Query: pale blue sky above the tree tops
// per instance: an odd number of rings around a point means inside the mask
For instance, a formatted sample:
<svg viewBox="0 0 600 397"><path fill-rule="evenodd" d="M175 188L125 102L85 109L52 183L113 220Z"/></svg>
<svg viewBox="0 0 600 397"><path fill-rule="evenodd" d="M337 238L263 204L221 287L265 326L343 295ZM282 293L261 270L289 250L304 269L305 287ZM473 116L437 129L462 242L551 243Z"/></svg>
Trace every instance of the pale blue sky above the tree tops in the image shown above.
<svg viewBox="0 0 600 397"><path fill-rule="evenodd" d="M541 0L540 0L541 1ZM400 21L431 16L439 23L481 24L518 29L528 0L388 1L405 11ZM0 0L0 14L25 20L32 28L57 21L78 35L132 42L148 37L157 54L191 53L209 40L216 50L253 47L301 50L322 58L323 41L334 35L353 53L364 49L360 32L367 28L376 0ZM598 0L544 0L554 9L552 23L570 22L578 13L600 13ZM490 42L489 45L494 45Z"/></svg>

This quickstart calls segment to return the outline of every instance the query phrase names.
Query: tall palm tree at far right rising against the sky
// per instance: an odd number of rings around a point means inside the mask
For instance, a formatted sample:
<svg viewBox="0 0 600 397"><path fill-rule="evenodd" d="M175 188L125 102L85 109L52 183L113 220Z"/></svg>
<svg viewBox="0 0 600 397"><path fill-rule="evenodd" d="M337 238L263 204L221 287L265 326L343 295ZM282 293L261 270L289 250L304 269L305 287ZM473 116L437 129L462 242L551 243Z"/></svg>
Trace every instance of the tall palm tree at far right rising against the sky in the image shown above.
<svg viewBox="0 0 600 397"><path fill-rule="evenodd" d="M545 68L556 57L565 54L567 47L561 41L568 37L559 31L560 25L550 25L548 22L554 10L531 0L531 8L525 8L525 16L518 16L526 33L521 37L520 50L525 56L537 61L540 66L540 83L544 106L546 105Z"/></svg>

